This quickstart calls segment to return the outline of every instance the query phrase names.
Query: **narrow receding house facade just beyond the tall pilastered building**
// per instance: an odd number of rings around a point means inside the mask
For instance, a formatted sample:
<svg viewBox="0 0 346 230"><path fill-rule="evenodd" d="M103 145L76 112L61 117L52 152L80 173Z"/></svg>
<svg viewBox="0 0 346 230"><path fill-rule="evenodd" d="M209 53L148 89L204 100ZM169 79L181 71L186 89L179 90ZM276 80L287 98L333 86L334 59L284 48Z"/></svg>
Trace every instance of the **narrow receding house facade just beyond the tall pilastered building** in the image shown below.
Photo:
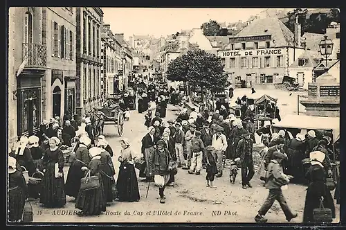
<svg viewBox="0 0 346 230"><path fill-rule="evenodd" d="M119 68L122 64L122 46L110 30L109 24L102 26L102 61L103 68L101 73L102 94L106 97L117 94L120 91L122 82L119 80Z"/></svg>

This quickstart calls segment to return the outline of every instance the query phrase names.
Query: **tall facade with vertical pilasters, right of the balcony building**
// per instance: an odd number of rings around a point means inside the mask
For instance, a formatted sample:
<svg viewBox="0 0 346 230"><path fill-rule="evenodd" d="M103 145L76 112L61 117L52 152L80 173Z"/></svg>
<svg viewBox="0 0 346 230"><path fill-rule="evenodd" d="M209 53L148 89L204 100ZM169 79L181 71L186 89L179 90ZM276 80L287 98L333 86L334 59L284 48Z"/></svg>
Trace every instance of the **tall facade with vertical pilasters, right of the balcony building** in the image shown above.
<svg viewBox="0 0 346 230"><path fill-rule="evenodd" d="M101 8L77 8L76 112L82 116L100 106L101 96Z"/></svg>

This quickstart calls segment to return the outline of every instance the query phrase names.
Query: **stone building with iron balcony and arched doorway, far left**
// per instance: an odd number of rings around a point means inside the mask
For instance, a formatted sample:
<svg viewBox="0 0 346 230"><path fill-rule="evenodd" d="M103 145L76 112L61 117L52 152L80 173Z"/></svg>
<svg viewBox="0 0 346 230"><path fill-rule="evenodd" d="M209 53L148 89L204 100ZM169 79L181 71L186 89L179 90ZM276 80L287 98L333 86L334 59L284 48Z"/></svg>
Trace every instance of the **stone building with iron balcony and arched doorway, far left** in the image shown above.
<svg viewBox="0 0 346 230"><path fill-rule="evenodd" d="M75 109L75 32L75 8L10 8L9 143Z"/></svg>

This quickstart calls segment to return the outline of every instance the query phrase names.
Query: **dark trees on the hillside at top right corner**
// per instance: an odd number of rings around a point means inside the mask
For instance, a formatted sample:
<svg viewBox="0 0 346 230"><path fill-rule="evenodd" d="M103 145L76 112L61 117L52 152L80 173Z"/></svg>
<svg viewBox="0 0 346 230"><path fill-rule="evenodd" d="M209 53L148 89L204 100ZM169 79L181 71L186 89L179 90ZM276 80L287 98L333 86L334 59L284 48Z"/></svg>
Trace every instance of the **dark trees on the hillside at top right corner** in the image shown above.
<svg viewBox="0 0 346 230"><path fill-rule="evenodd" d="M289 20L285 23L292 32L294 32L295 17L297 16L298 22L302 26L302 35L305 32L323 34L331 21L340 23L340 11L338 9L333 8L327 13L317 12L310 15L307 9L296 8L287 13Z"/></svg>

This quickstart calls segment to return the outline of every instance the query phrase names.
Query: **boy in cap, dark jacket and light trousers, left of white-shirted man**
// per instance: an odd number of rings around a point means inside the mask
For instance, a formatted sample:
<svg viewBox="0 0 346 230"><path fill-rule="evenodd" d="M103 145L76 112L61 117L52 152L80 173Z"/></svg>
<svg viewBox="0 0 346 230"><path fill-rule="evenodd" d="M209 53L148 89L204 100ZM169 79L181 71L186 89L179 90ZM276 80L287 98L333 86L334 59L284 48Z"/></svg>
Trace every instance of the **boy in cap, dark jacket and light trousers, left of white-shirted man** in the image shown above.
<svg viewBox="0 0 346 230"><path fill-rule="evenodd" d="M194 137L191 140L192 143L192 165L190 166L190 170L188 170L189 174L192 174L194 170L196 170L196 175L201 174L201 164L204 152L203 141L201 140L201 132L194 132Z"/></svg>

